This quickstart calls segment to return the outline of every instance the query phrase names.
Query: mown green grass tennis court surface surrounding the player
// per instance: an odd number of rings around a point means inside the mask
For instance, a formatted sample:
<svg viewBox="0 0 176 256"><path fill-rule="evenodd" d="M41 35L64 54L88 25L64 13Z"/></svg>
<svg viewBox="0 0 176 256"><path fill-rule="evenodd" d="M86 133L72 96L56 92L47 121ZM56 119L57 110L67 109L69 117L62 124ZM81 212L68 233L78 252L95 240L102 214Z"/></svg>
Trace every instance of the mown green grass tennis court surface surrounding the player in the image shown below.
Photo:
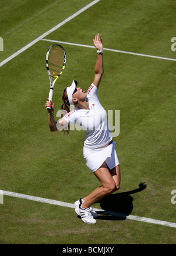
<svg viewBox="0 0 176 256"><path fill-rule="evenodd" d="M2 0L0 65L91 2ZM104 48L168 59L104 50L99 99L104 109L120 110L113 139L121 188L94 207L176 223L175 11L174 0L100 0L0 66L0 190L73 204L99 186L83 159L84 132L49 132L45 56L51 41L67 43L53 94L56 117L73 79L84 90L92 83L96 49L80 45L93 46L100 32ZM147 187L138 189L140 183ZM73 208L9 196L0 204L0 221L0 244L175 244L176 237L175 228L111 215L87 225Z"/></svg>

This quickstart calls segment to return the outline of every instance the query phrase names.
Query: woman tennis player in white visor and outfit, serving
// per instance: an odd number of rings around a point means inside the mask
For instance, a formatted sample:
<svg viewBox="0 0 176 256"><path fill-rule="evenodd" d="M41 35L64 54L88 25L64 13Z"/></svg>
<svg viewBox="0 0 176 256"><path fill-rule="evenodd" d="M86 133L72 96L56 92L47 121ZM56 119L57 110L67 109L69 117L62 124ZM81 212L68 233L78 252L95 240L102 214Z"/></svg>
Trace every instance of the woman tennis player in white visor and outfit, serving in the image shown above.
<svg viewBox="0 0 176 256"><path fill-rule="evenodd" d="M95 224L97 213L93 211L92 204L108 196L120 188L120 166L116 154L116 143L113 142L107 123L106 111L101 106L97 91L103 75L103 44L99 33L93 39L97 49L97 60L94 69L94 79L87 93L77 87L77 81L73 80L71 86L63 93L62 109L68 113L59 121L54 118L54 103L46 100L46 107L49 112L50 131L66 129L69 124L76 123L86 133L84 140L83 156L87 167L100 181L100 187L96 188L88 196L80 198L75 202L75 211L84 223ZM69 106L75 109L69 112Z"/></svg>

